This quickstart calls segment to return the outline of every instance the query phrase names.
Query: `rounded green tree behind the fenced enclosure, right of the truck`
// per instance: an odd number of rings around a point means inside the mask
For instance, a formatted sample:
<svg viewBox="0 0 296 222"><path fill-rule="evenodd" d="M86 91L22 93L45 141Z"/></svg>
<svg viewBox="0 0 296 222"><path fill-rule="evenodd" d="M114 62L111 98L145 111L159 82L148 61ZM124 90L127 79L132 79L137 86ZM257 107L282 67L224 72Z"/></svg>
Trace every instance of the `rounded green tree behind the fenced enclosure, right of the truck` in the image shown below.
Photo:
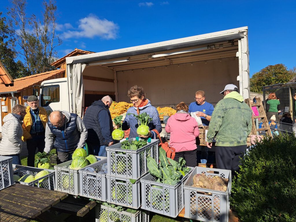
<svg viewBox="0 0 296 222"><path fill-rule="evenodd" d="M284 64L268 65L250 78L250 91L262 93L263 86L287 83L294 76L295 73L287 70Z"/></svg>

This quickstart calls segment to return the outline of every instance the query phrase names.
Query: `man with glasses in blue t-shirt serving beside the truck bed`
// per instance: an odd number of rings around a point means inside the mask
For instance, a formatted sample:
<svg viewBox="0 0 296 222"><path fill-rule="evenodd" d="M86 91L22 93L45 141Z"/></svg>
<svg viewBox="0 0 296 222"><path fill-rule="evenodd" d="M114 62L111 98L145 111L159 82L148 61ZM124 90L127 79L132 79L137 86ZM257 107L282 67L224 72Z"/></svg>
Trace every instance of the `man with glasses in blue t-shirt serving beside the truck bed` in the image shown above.
<svg viewBox="0 0 296 222"><path fill-rule="evenodd" d="M195 93L195 101L189 105L189 113L197 112L195 115L200 117L202 120L202 125L209 126L210 120L212 117L212 113L214 111L214 106L205 101L205 92L204 91L197 91ZM201 155L201 163L207 163L207 147L201 146L202 155Z"/></svg>

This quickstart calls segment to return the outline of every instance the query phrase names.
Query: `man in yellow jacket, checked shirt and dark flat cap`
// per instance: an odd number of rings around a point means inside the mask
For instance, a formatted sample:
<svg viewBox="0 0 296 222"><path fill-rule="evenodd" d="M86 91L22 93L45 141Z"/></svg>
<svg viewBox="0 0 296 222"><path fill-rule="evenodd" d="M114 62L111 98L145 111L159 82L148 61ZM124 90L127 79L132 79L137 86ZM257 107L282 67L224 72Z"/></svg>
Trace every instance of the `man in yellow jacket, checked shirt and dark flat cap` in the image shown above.
<svg viewBox="0 0 296 222"><path fill-rule="evenodd" d="M24 131L22 139L27 141L27 165L34 167L36 148L38 152L43 152L45 147L47 113L43 107L39 107L37 96L29 96L27 103L29 106L26 108L27 114L22 125Z"/></svg>

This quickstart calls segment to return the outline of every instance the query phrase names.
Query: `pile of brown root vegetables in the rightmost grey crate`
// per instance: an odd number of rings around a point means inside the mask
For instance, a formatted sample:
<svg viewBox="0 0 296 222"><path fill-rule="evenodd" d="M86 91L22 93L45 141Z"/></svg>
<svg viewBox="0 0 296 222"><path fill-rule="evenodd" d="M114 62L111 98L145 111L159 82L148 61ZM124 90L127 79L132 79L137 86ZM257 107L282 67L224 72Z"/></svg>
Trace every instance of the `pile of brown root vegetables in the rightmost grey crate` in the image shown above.
<svg viewBox="0 0 296 222"><path fill-rule="evenodd" d="M193 177L194 187L201 187L205 189L212 189L218 191L226 191L228 179L222 178L221 176L205 176L204 174L195 174Z"/></svg>

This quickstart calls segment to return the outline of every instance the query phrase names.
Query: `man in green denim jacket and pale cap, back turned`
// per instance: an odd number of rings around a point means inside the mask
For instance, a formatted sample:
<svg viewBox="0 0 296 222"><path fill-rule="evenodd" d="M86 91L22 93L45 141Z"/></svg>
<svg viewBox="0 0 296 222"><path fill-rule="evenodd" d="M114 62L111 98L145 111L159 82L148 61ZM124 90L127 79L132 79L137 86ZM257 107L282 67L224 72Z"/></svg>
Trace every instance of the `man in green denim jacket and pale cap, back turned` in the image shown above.
<svg viewBox="0 0 296 222"><path fill-rule="evenodd" d="M228 84L221 92L224 98L215 106L207 131L207 147L216 141L216 164L219 169L239 170L239 157L247 148L252 129L252 110L238 93L237 86Z"/></svg>

